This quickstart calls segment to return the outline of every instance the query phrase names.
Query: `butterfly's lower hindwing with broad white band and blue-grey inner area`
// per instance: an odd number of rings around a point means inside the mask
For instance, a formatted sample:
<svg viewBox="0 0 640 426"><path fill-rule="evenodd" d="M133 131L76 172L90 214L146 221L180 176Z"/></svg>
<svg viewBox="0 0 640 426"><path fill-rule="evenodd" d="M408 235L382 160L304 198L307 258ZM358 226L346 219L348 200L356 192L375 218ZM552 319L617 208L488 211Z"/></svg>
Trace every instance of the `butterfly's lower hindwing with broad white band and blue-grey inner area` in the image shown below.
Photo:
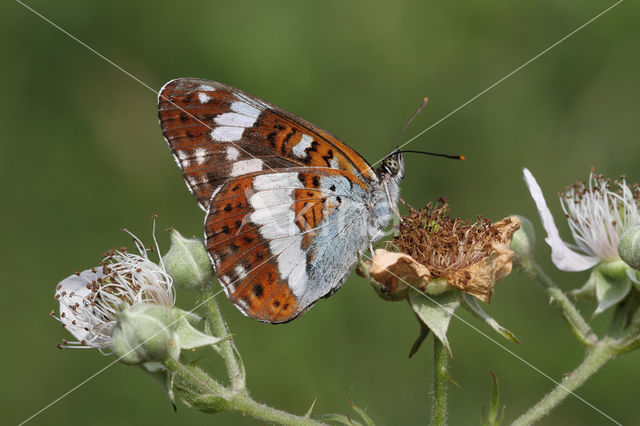
<svg viewBox="0 0 640 426"><path fill-rule="evenodd" d="M294 167L234 177L205 220L207 251L246 315L287 322L335 292L367 247L369 186L351 173Z"/></svg>

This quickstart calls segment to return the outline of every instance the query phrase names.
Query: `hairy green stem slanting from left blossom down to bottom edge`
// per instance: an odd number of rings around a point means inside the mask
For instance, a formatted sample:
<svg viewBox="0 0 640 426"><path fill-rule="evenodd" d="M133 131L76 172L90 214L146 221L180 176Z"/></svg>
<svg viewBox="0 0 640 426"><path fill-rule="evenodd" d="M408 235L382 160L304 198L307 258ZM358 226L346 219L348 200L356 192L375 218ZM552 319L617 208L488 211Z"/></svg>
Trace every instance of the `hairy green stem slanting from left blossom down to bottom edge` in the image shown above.
<svg viewBox="0 0 640 426"><path fill-rule="evenodd" d="M165 361L165 365L176 374L183 387L196 393L196 398L202 396L196 407L201 411L214 412L220 409L235 411L279 425L318 426L324 424L309 417L296 416L256 402L245 390L226 390L203 371L187 368L177 360L168 359ZM211 401L211 405L207 406L207 401Z"/></svg>

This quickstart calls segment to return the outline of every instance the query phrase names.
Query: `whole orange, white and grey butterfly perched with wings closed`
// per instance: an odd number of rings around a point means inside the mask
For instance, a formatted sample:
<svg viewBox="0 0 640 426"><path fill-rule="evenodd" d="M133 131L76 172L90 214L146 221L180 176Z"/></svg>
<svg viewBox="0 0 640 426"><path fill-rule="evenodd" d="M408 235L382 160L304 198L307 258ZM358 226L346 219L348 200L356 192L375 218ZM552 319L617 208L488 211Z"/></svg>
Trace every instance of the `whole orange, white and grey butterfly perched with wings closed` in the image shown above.
<svg viewBox="0 0 640 426"><path fill-rule="evenodd" d="M158 115L216 275L249 317L291 321L335 293L397 211L399 151L374 170L302 118L198 78L166 83Z"/></svg>

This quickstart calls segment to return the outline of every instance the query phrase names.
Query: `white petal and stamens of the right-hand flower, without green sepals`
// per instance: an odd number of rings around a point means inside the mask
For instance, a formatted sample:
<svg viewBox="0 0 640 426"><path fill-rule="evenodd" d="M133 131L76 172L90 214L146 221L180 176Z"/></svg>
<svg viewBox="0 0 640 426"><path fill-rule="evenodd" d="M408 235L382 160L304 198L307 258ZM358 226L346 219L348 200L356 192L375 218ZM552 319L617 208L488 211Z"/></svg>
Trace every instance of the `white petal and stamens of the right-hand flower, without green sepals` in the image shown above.
<svg viewBox="0 0 640 426"><path fill-rule="evenodd" d="M551 259L558 269L584 271L601 262L620 260L620 236L640 224L637 187L630 188L623 177L614 182L617 186L614 191L609 179L591 171L588 183L576 183L559 193L575 242L569 246L560 238L542 190L527 169L524 169L524 179L547 232L545 241L551 246Z"/></svg>

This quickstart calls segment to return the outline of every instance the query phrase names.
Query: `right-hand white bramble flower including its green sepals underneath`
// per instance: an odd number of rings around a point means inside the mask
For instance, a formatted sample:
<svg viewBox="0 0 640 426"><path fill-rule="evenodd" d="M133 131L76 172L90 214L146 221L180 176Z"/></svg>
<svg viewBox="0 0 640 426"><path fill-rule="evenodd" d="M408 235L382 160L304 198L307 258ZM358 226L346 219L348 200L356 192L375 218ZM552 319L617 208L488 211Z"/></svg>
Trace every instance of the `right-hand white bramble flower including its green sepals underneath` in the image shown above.
<svg viewBox="0 0 640 426"><path fill-rule="evenodd" d="M563 271L592 269L585 286L574 295L595 296L595 314L621 301L631 289L640 285L637 271L630 267L633 259L619 254L624 251L621 240L625 232L640 225L640 189L629 186L624 178L611 181L591 170L588 182L578 182L559 193L575 244L565 243L547 207L540 186L531 172L524 169L524 179L547 232L545 241L551 247L551 260ZM626 252L625 252L626 253Z"/></svg>

